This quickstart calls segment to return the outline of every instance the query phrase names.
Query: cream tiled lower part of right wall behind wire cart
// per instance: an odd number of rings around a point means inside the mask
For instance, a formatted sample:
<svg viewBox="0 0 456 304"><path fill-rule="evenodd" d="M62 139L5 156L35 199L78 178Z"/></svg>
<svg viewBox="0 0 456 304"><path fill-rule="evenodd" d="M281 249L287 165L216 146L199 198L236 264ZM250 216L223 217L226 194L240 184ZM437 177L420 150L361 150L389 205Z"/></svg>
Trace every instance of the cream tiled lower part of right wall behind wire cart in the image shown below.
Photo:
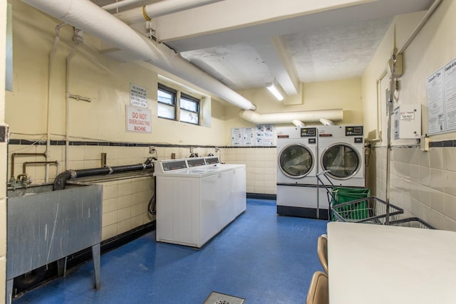
<svg viewBox="0 0 456 304"><path fill-rule="evenodd" d="M375 147L370 167L373 193L385 199L386 148ZM436 229L456 231L456 147L393 147L390 169L390 202L402 207L404 216L417 216Z"/></svg>

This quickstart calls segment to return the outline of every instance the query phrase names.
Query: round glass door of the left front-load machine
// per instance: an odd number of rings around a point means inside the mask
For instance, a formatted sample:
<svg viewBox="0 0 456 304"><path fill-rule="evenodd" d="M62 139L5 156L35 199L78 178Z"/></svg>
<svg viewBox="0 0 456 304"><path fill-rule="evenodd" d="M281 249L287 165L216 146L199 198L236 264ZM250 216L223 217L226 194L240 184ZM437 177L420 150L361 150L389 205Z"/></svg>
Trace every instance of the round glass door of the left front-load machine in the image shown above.
<svg viewBox="0 0 456 304"><path fill-rule="evenodd" d="M287 177L299 179L306 177L314 168L314 154L305 145L286 145L279 153L278 164Z"/></svg>

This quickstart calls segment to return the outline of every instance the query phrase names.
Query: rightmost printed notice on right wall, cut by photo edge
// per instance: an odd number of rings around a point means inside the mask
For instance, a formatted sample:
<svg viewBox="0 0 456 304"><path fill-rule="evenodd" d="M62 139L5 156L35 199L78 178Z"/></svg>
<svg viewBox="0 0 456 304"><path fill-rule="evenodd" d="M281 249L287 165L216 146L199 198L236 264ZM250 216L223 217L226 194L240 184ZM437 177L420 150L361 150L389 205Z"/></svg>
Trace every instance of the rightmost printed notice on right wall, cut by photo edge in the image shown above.
<svg viewBox="0 0 456 304"><path fill-rule="evenodd" d="M456 59L444 68L445 126L447 131L456 130Z"/></svg>

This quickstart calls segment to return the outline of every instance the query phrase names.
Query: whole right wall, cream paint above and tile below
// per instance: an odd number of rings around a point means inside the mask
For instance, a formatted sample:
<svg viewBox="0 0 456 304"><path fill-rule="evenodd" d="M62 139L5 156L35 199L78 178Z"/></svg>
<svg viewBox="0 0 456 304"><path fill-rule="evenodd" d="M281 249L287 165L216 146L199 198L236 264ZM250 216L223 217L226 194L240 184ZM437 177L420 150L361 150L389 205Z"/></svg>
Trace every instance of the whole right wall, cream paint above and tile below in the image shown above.
<svg viewBox="0 0 456 304"><path fill-rule="evenodd" d="M376 80L385 70L385 63L393 53L394 46L401 48L405 40L423 16L423 12L401 15L395 18L386 33L373 61L362 78L364 105L364 125L366 131L376 133L377 101ZM422 105L422 132L427 132L426 78L438 68L455 58L456 41L454 28L456 21L456 2L443 0L418 36L404 52L405 70L399 79L398 100L402 104ZM395 40L394 40L395 31ZM380 93L388 87L388 79L381 83ZM384 95L383 95L384 97ZM385 103L381 99L381 103ZM383 105L384 106L384 105ZM386 189L386 116L382 117L383 141L375 143L371 155L368 187L375 189L374 194L385 198ZM374 135L375 136L375 135ZM372 136L371 138L374 138ZM430 136L431 142L454 140L455 132ZM390 201L405 209L405 215L425 219L437 229L456 231L456 178L455 147L431 147L429 152L415 147L415 140L393 140L391 153ZM398 147L400 145L401 147ZM410 145L410 147L403 147Z"/></svg>

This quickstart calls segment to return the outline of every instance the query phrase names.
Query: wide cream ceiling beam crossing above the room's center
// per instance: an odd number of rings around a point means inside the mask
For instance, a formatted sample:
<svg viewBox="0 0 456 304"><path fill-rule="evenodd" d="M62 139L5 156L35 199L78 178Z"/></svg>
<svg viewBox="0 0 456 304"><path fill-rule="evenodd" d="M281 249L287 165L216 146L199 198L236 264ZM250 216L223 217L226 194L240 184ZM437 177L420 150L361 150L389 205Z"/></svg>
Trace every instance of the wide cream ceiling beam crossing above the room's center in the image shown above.
<svg viewBox="0 0 456 304"><path fill-rule="evenodd" d="M242 28L271 21L289 19L321 11L341 9L377 0L225 0L180 11L155 19L160 41L199 36Z"/></svg>

